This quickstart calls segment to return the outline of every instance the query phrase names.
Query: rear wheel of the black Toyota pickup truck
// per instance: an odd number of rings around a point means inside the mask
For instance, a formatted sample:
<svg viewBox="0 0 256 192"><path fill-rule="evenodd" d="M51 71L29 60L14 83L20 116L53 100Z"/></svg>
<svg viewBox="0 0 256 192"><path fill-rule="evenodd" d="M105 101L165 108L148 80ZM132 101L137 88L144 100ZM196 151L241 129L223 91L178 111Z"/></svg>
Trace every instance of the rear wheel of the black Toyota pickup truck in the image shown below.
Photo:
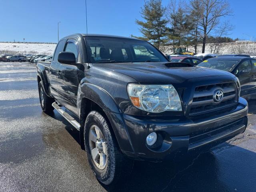
<svg viewBox="0 0 256 192"><path fill-rule="evenodd" d="M43 82L40 81L38 84L38 92L39 92L39 99L40 105L44 112L50 113L54 110L52 103L55 101L53 98L48 97L45 94Z"/></svg>

